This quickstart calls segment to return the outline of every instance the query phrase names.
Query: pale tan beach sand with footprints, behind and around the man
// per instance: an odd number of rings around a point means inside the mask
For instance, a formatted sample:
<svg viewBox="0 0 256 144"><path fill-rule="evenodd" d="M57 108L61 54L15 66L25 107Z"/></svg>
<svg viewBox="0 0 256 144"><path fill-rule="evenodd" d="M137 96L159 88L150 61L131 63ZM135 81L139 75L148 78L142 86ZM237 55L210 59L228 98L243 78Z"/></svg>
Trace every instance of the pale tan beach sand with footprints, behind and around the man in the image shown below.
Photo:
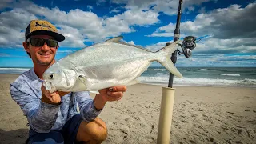
<svg viewBox="0 0 256 144"><path fill-rule="evenodd" d="M10 98L17 74L0 74L0 143L25 143L26 117ZM256 89L174 86L170 143L256 143ZM94 97L94 94L92 94ZM128 86L122 100L99 115L108 127L106 144L156 143L162 86Z"/></svg>

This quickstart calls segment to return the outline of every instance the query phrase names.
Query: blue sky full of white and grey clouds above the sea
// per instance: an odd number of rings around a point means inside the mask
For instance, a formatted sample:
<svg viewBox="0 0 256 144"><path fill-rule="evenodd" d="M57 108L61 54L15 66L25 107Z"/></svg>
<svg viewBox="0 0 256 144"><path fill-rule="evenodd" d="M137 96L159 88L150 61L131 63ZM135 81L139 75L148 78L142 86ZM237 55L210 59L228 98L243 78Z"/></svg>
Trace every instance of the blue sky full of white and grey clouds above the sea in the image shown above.
<svg viewBox="0 0 256 144"><path fill-rule="evenodd" d="M1 0L0 67L33 66L22 47L33 19L53 23L66 37L58 60L119 35L124 42L159 50L173 42L177 12L178 0ZM178 55L176 66L256 67L255 15L256 1L184 0L180 39L193 35L201 41L191 58Z"/></svg>

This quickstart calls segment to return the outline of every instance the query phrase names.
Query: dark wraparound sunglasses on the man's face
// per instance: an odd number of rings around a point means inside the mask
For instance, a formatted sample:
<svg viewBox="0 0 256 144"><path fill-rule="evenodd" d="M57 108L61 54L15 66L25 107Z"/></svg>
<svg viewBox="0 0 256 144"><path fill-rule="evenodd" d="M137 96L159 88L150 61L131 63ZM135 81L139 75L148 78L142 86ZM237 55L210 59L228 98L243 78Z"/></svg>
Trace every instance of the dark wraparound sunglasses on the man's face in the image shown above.
<svg viewBox="0 0 256 144"><path fill-rule="evenodd" d="M56 47L58 46L58 41L54 39L43 39L43 38L28 38L26 42L30 42L32 46L43 46L46 42L47 46Z"/></svg>

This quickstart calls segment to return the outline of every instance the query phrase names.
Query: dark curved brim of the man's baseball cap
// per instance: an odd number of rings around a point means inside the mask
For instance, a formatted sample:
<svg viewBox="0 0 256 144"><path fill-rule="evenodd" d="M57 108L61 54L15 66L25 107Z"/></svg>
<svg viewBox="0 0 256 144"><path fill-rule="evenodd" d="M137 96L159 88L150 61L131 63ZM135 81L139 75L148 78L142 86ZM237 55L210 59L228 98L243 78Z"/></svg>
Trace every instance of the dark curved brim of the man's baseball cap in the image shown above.
<svg viewBox="0 0 256 144"><path fill-rule="evenodd" d="M58 34L53 31L46 31L46 30L33 31L32 33L28 34L26 38L30 38L31 35L50 35L54 37L54 39L57 40L58 42L62 42L65 40L65 37L62 34Z"/></svg>

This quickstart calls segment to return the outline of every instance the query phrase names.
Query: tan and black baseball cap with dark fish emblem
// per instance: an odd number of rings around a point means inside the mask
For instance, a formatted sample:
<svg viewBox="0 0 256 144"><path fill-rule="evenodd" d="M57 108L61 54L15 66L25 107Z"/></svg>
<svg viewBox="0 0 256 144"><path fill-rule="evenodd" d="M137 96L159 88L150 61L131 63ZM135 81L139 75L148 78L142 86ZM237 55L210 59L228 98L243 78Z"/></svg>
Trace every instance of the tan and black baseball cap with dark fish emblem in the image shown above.
<svg viewBox="0 0 256 144"><path fill-rule="evenodd" d="M29 26L26 27L25 38L30 38L31 35L50 35L58 42L62 42L65 37L62 34L58 34L56 27L45 20L32 20Z"/></svg>

